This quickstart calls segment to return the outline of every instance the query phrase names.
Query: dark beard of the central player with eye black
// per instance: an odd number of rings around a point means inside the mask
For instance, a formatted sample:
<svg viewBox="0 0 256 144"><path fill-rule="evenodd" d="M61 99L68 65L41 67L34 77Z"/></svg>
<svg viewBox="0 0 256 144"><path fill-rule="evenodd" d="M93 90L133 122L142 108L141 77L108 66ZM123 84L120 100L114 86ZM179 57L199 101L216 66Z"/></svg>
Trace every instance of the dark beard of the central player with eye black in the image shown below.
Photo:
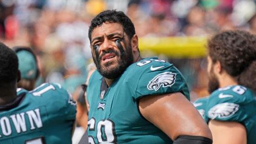
<svg viewBox="0 0 256 144"><path fill-rule="evenodd" d="M123 71L130 65L133 63L133 56L132 56L132 51L131 51L131 45L126 47L126 53L122 50L120 50L120 54L115 51L115 50L109 50L106 51L106 53L111 53L114 52L115 55L118 57L118 65L110 70L104 70L102 69L102 67L100 66L100 59L102 56L100 56L99 58L97 58L95 56L92 56L93 61L97 67L98 72L105 78L108 79L115 79L117 77L119 77ZM101 54L104 55L104 54ZM112 62L109 61L106 63L105 66L111 65Z"/></svg>

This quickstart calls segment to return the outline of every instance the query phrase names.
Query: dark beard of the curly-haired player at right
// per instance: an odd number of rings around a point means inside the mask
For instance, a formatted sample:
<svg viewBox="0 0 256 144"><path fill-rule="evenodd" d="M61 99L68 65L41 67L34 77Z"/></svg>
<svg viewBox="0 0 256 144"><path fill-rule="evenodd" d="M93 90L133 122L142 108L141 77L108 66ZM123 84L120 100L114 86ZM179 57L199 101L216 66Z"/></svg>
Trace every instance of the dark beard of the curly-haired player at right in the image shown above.
<svg viewBox="0 0 256 144"><path fill-rule="evenodd" d="M213 73L212 71L212 67L210 69L210 72L208 73L208 92L211 93L213 92L214 90L218 89L219 88L219 82L218 82L218 79L216 77L216 75Z"/></svg>

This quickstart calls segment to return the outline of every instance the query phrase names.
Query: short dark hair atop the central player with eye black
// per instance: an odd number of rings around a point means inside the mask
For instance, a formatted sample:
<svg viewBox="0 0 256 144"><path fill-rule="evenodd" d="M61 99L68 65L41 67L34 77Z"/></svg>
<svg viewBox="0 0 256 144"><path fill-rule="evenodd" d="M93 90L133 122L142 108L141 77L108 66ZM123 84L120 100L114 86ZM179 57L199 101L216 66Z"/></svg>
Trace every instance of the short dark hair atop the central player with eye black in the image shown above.
<svg viewBox="0 0 256 144"><path fill-rule="evenodd" d="M122 11L104 10L97 14L90 22L88 32L90 42L92 30L105 22L120 23L123 27L124 32L128 35L129 39L131 39L131 37L135 34L135 28L133 23L131 22L130 18L127 15L125 15Z"/></svg>

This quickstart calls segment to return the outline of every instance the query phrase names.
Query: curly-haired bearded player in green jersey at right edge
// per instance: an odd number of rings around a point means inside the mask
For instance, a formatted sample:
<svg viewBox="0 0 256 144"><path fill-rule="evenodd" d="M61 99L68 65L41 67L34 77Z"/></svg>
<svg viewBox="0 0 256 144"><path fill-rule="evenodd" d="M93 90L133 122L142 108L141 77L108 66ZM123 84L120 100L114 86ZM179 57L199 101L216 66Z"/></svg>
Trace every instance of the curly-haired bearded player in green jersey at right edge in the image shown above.
<svg viewBox="0 0 256 144"><path fill-rule="evenodd" d="M205 115L213 143L256 143L255 45L255 35L241 30L217 33L207 43Z"/></svg>

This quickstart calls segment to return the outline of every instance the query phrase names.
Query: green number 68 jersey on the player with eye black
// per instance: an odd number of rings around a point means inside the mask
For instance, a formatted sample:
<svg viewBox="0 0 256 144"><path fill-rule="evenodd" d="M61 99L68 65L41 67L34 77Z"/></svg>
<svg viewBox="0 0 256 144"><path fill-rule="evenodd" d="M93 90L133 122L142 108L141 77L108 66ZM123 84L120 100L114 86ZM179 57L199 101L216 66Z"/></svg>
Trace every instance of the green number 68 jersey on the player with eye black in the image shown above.
<svg viewBox="0 0 256 144"><path fill-rule="evenodd" d="M172 143L165 133L143 118L138 99L173 92L181 92L189 99L181 73L173 64L157 57L131 64L109 87L95 71L87 87L89 143Z"/></svg>

